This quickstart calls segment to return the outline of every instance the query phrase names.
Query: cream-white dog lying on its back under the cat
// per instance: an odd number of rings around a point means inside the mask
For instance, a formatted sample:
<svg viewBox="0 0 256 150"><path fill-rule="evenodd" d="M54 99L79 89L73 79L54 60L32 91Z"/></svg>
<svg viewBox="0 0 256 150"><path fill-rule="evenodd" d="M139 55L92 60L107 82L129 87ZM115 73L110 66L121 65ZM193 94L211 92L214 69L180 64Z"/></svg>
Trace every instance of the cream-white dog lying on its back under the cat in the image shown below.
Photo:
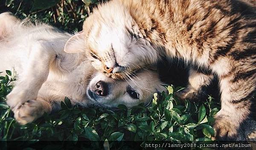
<svg viewBox="0 0 256 150"><path fill-rule="evenodd" d="M17 72L7 104L20 124L58 110L65 96L85 107L132 107L148 104L151 93L164 90L155 71L142 69L123 80L97 72L84 54L64 52L71 36L49 25L21 23L11 13L0 14L0 71Z"/></svg>

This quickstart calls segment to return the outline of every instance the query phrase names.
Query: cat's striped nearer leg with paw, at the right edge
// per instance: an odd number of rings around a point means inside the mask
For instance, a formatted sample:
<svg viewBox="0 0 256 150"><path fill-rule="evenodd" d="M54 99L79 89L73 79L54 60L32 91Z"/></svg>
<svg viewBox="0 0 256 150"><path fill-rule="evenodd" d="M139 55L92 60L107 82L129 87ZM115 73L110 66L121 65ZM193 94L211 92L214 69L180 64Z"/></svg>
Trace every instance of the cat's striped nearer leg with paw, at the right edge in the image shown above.
<svg viewBox="0 0 256 150"><path fill-rule="evenodd" d="M250 68L248 68L250 69ZM215 137L218 140L240 140L239 130L248 119L255 100L255 75L239 76L235 72L220 76L221 110L215 115Z"/></svg>

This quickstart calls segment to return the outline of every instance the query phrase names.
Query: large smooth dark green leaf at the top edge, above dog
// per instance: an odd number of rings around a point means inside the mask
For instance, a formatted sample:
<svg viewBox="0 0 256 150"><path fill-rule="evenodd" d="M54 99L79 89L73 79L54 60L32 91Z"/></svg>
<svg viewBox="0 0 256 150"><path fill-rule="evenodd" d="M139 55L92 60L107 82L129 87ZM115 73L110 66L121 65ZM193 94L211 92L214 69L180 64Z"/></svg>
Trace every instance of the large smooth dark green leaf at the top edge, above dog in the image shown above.
<svg viewBox="0 0 256 150"><path fill-rule="evenodd" d="M59 2L60 0L35 0L32 10L51 8L52 6L55 6Z"/></svg>

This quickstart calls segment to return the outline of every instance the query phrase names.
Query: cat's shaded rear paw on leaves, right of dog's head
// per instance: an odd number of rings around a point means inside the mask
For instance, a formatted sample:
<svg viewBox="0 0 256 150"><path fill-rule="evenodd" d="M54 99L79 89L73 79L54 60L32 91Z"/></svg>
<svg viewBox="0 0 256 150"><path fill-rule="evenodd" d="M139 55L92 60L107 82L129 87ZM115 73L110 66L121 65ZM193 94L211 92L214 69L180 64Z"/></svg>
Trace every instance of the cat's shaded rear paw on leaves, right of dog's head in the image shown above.
<svg viewBox="0 0 256 150"><path fill-rule="evenodd" d="M180 100L195 100L198 99L198 91L196 91L194 88L192 87L188 87L185 88L184 90L178 91L177 93L175 93L175 96L177 98L179 98Z"/></svg>

